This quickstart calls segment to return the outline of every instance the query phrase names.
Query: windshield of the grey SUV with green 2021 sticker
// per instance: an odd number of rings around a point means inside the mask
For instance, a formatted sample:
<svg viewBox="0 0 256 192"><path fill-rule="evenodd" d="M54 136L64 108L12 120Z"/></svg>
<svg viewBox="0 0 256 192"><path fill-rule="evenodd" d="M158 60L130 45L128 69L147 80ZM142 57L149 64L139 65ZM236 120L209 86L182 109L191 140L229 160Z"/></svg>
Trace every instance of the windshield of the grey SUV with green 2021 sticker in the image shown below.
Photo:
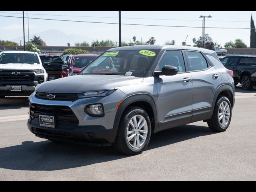
<svg viewBox="0 0 256 192"><path fill-rule="evenodd" d="M126 50L105 52L80 74L113 74L143 77L159 50Z"/></svg>

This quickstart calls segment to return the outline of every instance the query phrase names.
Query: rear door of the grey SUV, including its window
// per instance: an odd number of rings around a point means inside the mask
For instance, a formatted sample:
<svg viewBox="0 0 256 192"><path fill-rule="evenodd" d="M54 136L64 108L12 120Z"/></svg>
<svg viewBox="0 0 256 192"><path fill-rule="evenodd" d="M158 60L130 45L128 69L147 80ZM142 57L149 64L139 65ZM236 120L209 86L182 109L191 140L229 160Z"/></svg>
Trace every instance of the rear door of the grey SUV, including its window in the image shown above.
<svg viewBox="0 0 256 192"><path fill-rule="evenodd" d="M210 118L213 110L214 91L222 83L220 72L198 51L186 51L188 67L192 76L192 120Z"/></svg>

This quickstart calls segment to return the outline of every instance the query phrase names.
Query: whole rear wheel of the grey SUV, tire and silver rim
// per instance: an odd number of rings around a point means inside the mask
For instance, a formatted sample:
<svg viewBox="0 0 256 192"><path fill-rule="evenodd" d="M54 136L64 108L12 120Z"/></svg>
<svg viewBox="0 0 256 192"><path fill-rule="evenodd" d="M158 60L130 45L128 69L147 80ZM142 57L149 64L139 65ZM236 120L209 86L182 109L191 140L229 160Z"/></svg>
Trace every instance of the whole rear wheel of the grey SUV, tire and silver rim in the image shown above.
<svg viewBox="0 0 256 192"><path fill-rule="evenodd" d="M208 120L209 128L216 132L225 131L231 121L232 107L226 96L219 96L214 106L212 118Z"/></svg>

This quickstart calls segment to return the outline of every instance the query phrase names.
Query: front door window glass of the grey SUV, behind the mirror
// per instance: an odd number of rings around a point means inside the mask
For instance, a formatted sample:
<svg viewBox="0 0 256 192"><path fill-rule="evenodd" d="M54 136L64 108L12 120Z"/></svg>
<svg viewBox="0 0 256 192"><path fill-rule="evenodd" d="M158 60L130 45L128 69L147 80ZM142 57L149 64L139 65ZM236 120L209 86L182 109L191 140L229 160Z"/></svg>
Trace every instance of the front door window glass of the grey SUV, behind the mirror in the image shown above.
<svg viewBox="0 0 256 192"><path fill-rule="evenodd" d="M171 65L178 69L178 72L185 72L185 63L182 56L182 51L166 51L162 56L160 62L156 66L157 71L161 71L165 65Z"/></svg>

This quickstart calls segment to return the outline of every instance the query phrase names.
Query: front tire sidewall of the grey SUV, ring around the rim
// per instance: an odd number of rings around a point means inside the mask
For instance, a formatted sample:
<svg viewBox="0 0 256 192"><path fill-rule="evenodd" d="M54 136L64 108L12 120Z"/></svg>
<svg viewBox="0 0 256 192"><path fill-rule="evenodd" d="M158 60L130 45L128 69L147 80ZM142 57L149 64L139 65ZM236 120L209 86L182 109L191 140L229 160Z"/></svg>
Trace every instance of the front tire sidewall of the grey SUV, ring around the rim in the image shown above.
<svg viewBox="0 0 256 192"><path fill-rule="evenodd" d="M135 115L142 115L145 118L145 120L148 124L148 135L147 135L146 141L144 142L143 146L140 147L140 148L133 148L132 146L130 146L130 144L127 140L127 136L126 136L127 126L129 124L131 118ZM129 112L126 116L124 116L124 119L125 119L126 123L125 123L125 127L122 127L122 129L123 129L122 136L124 136L124 138L125 138L125 143L126 143L125 146L128 148L128 150L130 150L132 152L135 152L135 153L142 152L148 146L148 142L150 140L150 135L151 135L151 123L150 123L150 119L148 117L148 114L143 109L134 109L131 112Z"/></svg>

